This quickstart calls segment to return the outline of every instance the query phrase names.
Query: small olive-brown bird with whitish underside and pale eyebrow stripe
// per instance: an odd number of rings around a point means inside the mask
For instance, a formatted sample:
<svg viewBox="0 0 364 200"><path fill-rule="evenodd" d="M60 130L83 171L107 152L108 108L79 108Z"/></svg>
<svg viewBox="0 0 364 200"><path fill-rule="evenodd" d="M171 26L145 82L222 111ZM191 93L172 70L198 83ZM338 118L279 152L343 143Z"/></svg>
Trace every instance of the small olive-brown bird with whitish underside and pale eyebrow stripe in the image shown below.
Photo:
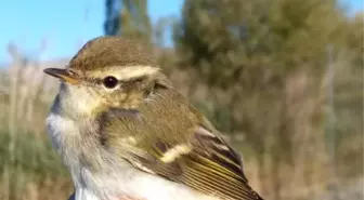
<svg viewBox="0 0 364 200"><path fill-rule="evenodd" d="M46 124L75 200L262 200L240 154L171 83L144 43L86 42L63 68Z"/></svg>

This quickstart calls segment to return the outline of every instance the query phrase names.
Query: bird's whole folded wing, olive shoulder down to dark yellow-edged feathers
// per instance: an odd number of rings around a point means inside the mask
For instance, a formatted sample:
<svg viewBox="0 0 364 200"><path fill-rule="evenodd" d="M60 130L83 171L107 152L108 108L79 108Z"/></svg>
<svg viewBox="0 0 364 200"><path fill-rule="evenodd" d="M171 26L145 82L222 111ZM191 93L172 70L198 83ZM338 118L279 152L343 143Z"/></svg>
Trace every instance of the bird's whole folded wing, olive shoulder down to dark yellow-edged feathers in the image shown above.
<svg viewBox="0 0 364 200"><path fill-rule="evenodd" d="M160 97L158 101L164 102L159 104L150 101L154 107L141 108L141 114L114 110L113 120L103 119L105 128L101 135L107 133L109 138L105 145L120 148L117 150L120 157L141 171L197 191L213 194L222 200L262 200L248 184L239 154L224 142L208 120L184 102L179 103L181 98L166 99ZM157 109L157 106L164 107ZM176 106L179 109L170 109ZM188 111L184 114L178 111L180 109ZM115 118L122 122L108 123ZM125 132L129 136L122 135ZM173 137L168 137L171 133ZM134 138L132 148L120 146L126 137Z"/></svg>

